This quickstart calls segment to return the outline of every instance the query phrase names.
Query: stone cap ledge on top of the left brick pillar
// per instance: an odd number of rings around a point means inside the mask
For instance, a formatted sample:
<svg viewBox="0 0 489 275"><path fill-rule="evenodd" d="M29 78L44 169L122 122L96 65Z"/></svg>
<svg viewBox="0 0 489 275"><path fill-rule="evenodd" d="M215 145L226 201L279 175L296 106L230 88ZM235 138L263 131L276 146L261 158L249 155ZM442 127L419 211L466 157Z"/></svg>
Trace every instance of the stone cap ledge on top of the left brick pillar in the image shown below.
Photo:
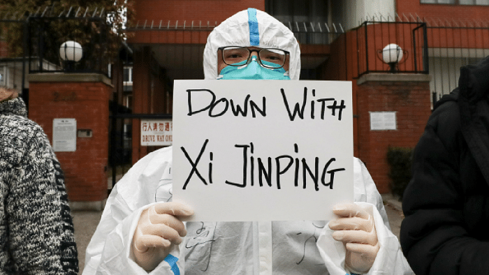
<svg viewBox="0 0 489 275"><path fill-rule="evenodd" d="M109 77L100 73L30 73L29 82L103 82L113 87Z"/></svg>

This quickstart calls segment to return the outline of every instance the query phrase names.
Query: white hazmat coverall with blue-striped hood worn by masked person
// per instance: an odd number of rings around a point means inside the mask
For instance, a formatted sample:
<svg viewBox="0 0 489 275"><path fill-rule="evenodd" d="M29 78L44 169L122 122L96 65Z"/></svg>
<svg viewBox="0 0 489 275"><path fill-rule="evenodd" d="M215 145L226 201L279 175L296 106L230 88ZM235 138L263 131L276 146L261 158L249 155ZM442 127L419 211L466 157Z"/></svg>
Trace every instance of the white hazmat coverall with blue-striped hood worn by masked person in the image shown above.
<svg viewBox="0 0 489 275"><path fill-rule="evenodd" d="M217 47L253 44L248 20L244 10L212 31L204 52L206 79L217 78ZM259 36L254 38L259 40L257 46L291 52L289 75L298 80L300 50L291 31L260 10L256 10L253 20L258 22ZM254 36L256 31L252 32ZM353 163L354 200L364 207L373 206L380 246L368 274L412 274L389 228L370 174L357 158ZM83 275L147 274L133 261L131 242L141 212L156 202L171 200L171 168L172 148L166 147L140 159L117 182L87 247ZM173 259L166 258L150 274L347 273L344 244L331 237L333 230L326 221L187 222L186 226L184 241L170 252Z"/></svg>

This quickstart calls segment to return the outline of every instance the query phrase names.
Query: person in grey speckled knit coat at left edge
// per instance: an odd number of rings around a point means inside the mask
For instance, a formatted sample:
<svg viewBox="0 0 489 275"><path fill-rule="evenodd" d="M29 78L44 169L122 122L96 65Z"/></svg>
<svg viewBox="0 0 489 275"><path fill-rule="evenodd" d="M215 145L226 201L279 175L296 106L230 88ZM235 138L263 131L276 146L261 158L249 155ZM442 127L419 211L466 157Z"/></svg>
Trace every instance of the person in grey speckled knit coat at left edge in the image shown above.
<svg viewBox="0 0 489 275"><path fill-rule="evenodd" d="M78 274L61 170L22 98L0 87L0 274Z"/></svg>

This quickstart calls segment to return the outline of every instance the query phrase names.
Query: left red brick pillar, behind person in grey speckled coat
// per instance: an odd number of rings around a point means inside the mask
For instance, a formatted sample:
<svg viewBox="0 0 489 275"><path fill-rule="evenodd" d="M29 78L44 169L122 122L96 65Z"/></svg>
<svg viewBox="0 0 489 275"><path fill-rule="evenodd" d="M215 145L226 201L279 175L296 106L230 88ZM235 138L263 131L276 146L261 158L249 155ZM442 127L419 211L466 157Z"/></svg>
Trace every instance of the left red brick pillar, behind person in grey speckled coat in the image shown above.
<svg viewBox="0 0 489 275"><path fill-rule="evenodd" d="M29 118L52 144L53 119L76 119L92 137L76 138L75 151L57 151L74 209L103 209L107 198L110 80L99 74L29 75Z"/></svg>

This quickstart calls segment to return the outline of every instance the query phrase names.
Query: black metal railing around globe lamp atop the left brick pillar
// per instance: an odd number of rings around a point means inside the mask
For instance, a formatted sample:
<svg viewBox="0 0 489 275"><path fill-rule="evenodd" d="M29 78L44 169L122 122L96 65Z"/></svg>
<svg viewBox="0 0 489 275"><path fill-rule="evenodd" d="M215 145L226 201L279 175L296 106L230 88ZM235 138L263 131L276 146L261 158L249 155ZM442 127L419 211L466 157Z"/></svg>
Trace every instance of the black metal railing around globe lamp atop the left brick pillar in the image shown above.
<svg viewBox="0 0 489 275"><path fill-rule="evenodd" d="M29 73L108 75L111 60L108 58L108 26L103 10L66 10L58 16L42 13L30 16L27 24ZM61 49L63 45L64 49ZM61 54L62 51L66 54ZM80 51L79 60L75 57L77 51Z"/></svg>

